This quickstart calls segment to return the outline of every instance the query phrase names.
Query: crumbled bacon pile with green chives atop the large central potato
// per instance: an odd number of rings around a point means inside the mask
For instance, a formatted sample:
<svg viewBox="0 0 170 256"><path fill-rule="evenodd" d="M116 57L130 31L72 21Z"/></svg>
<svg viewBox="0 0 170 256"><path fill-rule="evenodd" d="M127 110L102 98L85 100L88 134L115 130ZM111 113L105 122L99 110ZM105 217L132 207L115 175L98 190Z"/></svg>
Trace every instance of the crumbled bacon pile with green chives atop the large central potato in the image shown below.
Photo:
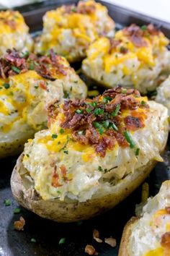
<svg viewBox="0 0 170 256"><path fill-rule="evenodd" d="M93 100L68 100L63 103L63 129L72 130L72 140L84 145L92 145L101 157L106 150L112 150L116 142L121 147L129 146L125 131L135 131L145 126L144 105L139 101L138 90L122 90L120 86L106 90L102 96ZM138 108L142 106L142 111ZM122 116L122 111L128 111L128 116ZM58 109L50 106L49 120L55 119ZM53 114L54 112L54 114Z"/></svg>

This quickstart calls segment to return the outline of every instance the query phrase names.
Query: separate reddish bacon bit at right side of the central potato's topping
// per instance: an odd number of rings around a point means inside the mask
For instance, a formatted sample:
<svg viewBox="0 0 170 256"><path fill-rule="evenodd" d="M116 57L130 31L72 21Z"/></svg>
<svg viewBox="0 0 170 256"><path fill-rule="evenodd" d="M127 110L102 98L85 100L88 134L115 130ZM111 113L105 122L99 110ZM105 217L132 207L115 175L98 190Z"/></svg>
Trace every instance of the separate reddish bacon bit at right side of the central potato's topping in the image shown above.
<svg viewBox="0 0 170 256"><path fill-rule="evenodd" d="M126 116L124 121L126 127L131 131L145 127L145 124L143 124L143 119L140 117Z"/></svg>

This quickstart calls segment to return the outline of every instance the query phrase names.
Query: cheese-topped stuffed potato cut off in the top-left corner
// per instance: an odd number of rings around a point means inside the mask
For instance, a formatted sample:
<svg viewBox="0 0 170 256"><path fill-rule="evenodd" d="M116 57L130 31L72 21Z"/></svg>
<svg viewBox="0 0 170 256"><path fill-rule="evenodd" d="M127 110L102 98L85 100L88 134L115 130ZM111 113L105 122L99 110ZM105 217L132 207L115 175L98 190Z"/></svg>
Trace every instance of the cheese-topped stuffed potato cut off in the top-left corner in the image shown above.
<svg viewBox="0 0 170 256"><path fill-rule="evenodd" d="M0 55L9 48L32 51L33 40L22 14L17 11L0 12Z"/></svg>

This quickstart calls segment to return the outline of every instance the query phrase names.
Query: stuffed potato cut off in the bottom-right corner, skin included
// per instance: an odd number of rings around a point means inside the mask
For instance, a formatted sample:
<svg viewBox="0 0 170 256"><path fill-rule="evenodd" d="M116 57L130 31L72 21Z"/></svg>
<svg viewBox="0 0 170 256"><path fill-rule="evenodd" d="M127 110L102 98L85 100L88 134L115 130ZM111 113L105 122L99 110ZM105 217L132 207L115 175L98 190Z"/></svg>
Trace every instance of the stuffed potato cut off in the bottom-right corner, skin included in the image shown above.
<svg viewBox="0 0 170 256"><path fill-rule="evenodd" d="M140 218L131 218L122 234L119 256L170 255L170 181L161 185L143 207Z"/></svg>

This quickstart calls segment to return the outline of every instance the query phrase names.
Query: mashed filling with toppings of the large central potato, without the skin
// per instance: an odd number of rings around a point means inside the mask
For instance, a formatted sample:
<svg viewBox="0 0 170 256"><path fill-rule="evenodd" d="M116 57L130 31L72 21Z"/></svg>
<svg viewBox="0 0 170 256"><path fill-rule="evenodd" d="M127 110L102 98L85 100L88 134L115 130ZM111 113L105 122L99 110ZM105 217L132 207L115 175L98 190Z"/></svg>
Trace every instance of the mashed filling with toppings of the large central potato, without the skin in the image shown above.
<svg viewBox="0 0 170 256"><path fill-rule="evenodd" d="M109 192L126 175L163 161L167 109L117 87L94 100L48 108L48 129L24 148L23 165L43 200L84 202Z"/></svg>

